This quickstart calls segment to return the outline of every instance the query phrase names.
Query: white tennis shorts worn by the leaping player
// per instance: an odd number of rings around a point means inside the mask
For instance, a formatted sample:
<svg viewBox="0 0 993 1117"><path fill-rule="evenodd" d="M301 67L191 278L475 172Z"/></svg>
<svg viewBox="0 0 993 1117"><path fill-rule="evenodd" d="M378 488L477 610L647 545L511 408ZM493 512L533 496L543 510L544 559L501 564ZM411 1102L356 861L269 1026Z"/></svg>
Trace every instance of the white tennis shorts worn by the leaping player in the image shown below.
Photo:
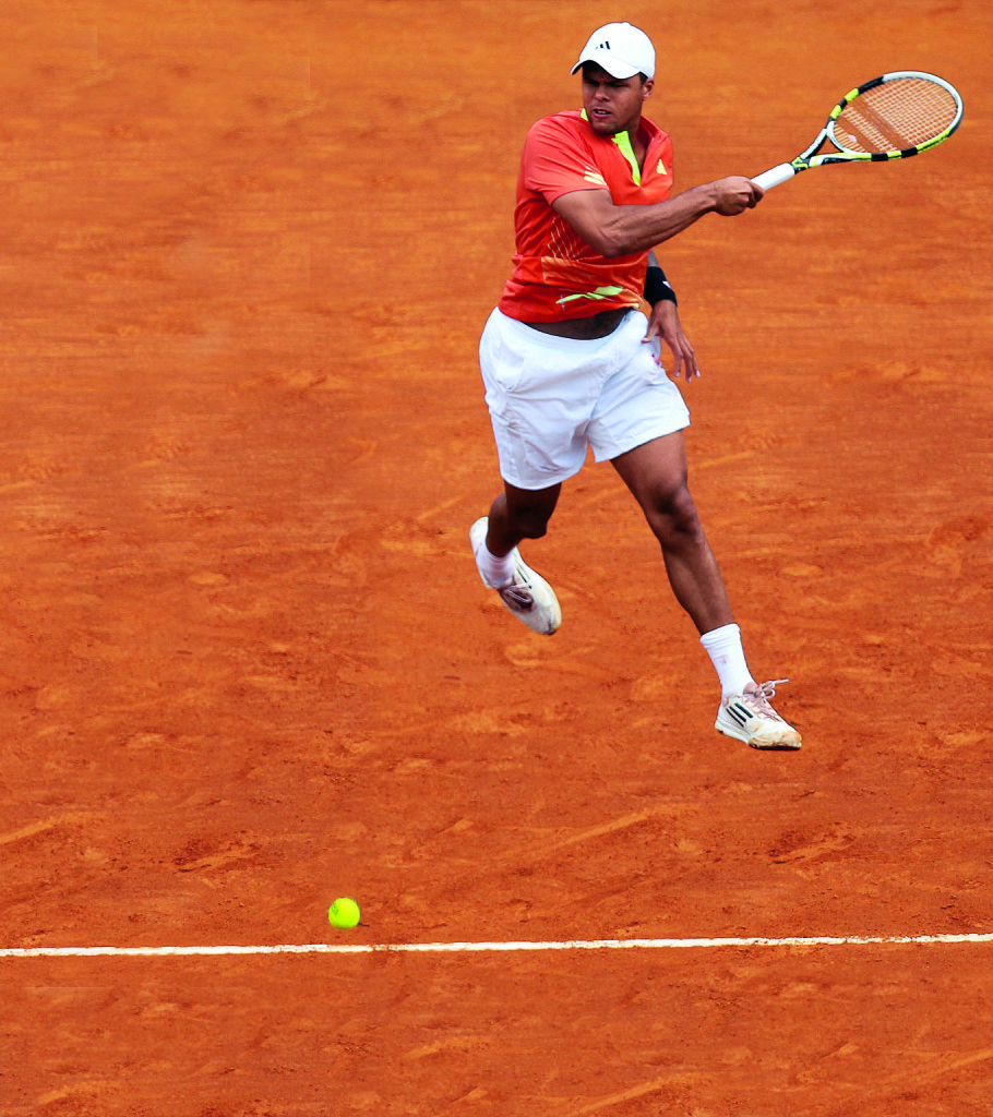
<svg viewBox="0 0 993 1117"><path fill-rule="evenodd" d="M479 366L504 480L548 488L582 469L588 447L609 461L689 426L659 340L641 341L647 330L630 311L607 337L575 341L490 314Z"/></svg>

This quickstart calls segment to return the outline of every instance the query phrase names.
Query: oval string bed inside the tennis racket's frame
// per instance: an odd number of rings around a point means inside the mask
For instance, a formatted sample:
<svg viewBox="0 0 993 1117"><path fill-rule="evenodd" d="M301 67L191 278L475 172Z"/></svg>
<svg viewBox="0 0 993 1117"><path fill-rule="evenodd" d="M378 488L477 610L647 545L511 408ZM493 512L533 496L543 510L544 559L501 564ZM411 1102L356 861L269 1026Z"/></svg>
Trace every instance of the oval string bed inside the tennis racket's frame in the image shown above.
<svg viewBox="0 0 993 1117"><path fill-rule="evenodd" d="M848 151L905 151L941 135L957 111L944 86L918 77L896 78L846 105L834 121L833 137Z"/></svg>

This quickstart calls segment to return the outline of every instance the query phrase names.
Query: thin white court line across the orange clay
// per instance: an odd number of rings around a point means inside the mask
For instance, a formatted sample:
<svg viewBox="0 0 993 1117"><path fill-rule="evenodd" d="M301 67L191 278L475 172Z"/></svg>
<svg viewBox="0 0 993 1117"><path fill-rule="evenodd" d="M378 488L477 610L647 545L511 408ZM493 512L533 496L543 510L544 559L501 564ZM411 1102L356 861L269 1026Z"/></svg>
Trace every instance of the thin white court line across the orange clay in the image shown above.
<svg viewBox="0 0 993 1117"><path fill-rule="evenodd" d="M452 954L506 951L676 951L716 946L873 946L993 943L987 935L818 935L806 938L601 938L564 943L311 943L281 946L29 946L0 949L0 958L160 957L191 954Z"/></svg>

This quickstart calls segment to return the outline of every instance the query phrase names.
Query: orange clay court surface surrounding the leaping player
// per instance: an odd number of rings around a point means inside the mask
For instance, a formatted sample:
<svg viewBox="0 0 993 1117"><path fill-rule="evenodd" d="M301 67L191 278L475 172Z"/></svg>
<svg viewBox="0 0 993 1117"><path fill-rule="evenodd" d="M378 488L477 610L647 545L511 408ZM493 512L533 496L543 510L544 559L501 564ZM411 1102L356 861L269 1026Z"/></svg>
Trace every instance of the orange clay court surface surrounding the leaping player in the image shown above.
<svg viewBox="0 0 993 1117"><path fill-rule="evenodd" d="M521 142L614 18L660 48L677 189L791 157L886 70L965 97L943 147L660 254L691 487L798 754L714 732L609 466L525 548L553 639L468 551ZM989 4L0 27L3 1117L986 1117Z"/></svg>

